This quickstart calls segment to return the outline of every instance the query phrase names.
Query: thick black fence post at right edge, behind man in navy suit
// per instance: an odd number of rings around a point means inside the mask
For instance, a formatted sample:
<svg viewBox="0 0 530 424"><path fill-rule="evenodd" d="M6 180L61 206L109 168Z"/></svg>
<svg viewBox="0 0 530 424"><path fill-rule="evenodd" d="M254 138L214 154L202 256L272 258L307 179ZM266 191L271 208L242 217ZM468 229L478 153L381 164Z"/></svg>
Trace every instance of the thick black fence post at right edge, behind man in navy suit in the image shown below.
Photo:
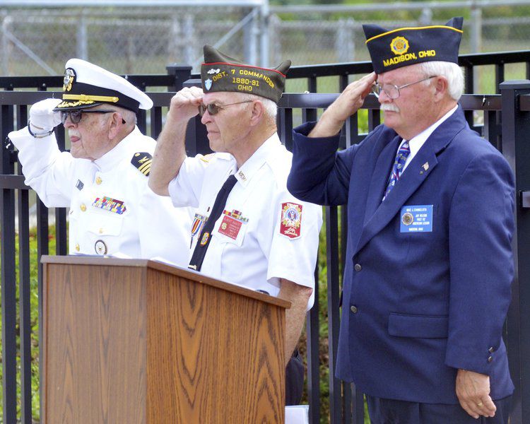
<svg viewBox="0 0 530 424"><path fill-rule="evenodd" d="M530 422L530 81L500 84L502 95L502 153L515 175L515 261L512 304L507 318L507 351L515 385L512 424ZM523 95L526 95L523 97Z"/></svg>

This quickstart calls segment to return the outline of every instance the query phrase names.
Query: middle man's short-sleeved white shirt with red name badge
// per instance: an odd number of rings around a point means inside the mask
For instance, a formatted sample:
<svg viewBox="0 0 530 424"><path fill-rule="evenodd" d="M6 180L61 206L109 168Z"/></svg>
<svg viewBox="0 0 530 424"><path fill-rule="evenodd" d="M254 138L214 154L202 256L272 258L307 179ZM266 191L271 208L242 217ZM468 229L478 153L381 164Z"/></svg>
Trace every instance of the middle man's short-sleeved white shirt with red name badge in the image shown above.
<svg viewBox="0 0 530 424"><path fill-rule="evenodd" d="M201 273L273 296L280 278L314 288L322 207L287 191L291 159L274 134L239 170L228 153L184 160L169 192L175 206L197 207L190 257L220 187L230 174L237 178L213 228ZM308 306L313 302L314 295Z"/></svg>

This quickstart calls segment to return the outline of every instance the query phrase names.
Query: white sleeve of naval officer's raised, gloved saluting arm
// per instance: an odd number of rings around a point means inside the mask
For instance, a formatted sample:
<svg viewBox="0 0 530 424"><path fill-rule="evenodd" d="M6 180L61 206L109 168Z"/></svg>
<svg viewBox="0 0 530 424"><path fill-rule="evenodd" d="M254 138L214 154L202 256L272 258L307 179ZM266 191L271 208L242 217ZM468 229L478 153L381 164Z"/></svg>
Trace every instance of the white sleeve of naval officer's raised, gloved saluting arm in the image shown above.
<svg viewBox="0 0 530 424"><path fill-rule="evenodd" d="M25 184L37 192L47 207L70 206L74 159L70 153L59 151L55 135L35 139L26 126L11 131L8 137L18 148Z"/></svg>

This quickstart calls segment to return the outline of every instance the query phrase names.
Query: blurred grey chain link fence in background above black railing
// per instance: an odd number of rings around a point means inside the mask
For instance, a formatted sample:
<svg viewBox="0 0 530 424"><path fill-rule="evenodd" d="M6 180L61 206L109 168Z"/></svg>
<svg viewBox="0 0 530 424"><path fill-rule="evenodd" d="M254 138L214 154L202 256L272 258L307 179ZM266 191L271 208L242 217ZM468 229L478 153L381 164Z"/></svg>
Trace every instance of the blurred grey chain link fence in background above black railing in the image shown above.
<svg viewBox="0 0 530 424"><path fill-rule="evenodd" d="M458 2L457 2L458 3ZM464 16L460 52L528 49L530 1L516 6L406 11L394 8L336 13L284 13L271 8L1 8L0 73L4 76L59 75L71 57L81 57L116 73L165 73L171 63L198 71L204 44L258 63L266 37L271 65L368 60L363 23L384 28L444 23ZM263 61L261 62L263 63Z"/></svg>

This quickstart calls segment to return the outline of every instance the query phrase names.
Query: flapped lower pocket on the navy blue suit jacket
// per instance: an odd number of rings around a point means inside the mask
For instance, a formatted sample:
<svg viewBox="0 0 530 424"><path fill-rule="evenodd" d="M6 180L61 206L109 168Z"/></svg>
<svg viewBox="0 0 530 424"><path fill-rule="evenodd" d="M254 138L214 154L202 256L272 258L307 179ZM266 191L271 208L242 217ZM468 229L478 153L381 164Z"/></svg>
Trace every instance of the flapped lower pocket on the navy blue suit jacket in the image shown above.
<svg viewBox="0 0 530 424"><path fill-rule="evenodd" d="M447 338L447 315L411 315L391 312L388 332L391 336L414 338Z"/></svg>

